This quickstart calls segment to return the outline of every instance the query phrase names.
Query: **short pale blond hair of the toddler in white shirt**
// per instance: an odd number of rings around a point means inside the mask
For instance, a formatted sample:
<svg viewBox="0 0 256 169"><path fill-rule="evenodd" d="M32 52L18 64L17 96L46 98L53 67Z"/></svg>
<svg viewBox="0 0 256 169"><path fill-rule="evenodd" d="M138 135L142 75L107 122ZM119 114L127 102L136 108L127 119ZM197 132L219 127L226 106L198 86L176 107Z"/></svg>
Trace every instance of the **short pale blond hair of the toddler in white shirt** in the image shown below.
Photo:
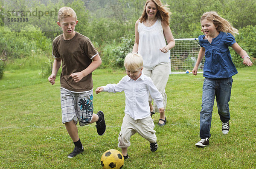
<svg viewBox="0 0 256 169"><path fill-rule="evenodd" d="M128 54L125 56L125 69L130 71L138 71L143 67L143 58L140 54Z"/></svg>

